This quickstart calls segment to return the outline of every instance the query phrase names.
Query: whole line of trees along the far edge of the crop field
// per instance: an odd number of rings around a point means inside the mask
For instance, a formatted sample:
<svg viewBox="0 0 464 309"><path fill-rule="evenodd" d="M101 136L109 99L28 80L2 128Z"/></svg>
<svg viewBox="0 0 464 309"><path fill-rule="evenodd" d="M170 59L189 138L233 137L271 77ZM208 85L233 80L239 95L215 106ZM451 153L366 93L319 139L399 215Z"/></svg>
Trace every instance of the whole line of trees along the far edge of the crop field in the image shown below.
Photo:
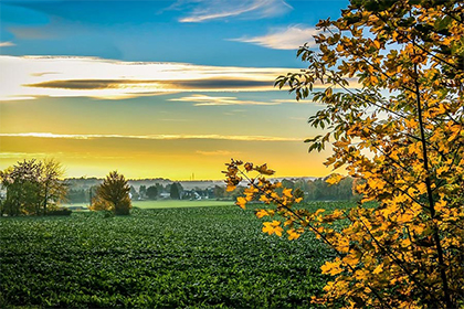
<svg viewBox="0 0 464 309"><path fill-rule="evenodd" d="M7 189L7 195L1 201L1 214L7 215L44 215L59 212L61 203L88 203L92 210L110 210L118 214L127 214L131 201L137 200L201 200L219 199L233 200L243 193L239 187L228 192L224 187L184 190L180 182L166 185L140 185L137 191L129 185L124 175L110 172L98 185L87 189L71 189L63 179L64 169L54 159L39 161L23 160L0 171L1 184ZM305 181L283 180L285 188L299 190L306 201L350 200L352 193L352 178L346 178L340 183L328 185L325 179ZM67 213L61 210L64 214Z"/></svg>

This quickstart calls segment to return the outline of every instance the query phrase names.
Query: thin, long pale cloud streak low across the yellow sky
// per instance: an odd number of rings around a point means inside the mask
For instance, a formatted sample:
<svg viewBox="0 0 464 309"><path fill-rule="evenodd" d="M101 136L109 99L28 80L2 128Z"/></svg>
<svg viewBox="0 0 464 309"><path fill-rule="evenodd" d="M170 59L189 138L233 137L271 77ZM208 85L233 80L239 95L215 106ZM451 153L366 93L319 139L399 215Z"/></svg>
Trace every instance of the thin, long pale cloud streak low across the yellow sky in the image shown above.
<svg viewBox="0 0 464 309"><path fill-rule="evenodd" d="M0 134L0 137L52 138L52 139L146 139L146 140L177 140L177 139L212 139L238 141L302 141L303 138L275 136L229 136L229 135L60 135L51 132Z"/></svg>

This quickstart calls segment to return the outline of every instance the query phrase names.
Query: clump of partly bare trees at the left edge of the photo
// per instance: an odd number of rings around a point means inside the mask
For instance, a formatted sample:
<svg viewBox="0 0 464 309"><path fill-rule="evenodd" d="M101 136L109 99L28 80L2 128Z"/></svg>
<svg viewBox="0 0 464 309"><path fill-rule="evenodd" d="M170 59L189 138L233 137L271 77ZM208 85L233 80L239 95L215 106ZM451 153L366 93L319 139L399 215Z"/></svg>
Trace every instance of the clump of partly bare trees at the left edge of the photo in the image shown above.
<svg viewBox="0 0 464 309"><path fill-rule="evenodd" d="M62 180L64 170L54 159L18 162L0 171L7 200L1 211L8 215L45 214L66 196L67 185Z"/></svg>

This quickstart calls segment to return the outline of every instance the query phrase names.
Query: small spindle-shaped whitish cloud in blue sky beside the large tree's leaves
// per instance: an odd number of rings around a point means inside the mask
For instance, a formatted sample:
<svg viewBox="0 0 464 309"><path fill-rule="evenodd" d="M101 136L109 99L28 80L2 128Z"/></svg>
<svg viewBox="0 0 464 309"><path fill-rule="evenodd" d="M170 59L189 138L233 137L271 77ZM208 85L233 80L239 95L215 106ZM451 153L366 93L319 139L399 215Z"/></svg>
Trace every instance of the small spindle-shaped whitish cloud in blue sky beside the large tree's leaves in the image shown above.
<svg viewBox="0 0 464 309"><path fill-rule="evenodd" d="M229 41L252 43L260 46L274 50L297 50L304 43L314 46L313 35L319 31L314 28L303 28L300 25L291 25L286 29L278 29L263 36L230 39Z"/></svg>

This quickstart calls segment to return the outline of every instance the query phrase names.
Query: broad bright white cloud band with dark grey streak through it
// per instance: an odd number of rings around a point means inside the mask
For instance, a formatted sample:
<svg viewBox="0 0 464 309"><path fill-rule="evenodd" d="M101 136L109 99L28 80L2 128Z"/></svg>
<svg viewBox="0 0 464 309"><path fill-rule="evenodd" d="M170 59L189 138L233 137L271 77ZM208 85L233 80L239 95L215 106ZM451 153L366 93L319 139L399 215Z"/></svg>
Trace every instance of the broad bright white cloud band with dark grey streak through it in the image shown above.
<svg viewBox="0 0 464 309"><path fill-rule="evenodd" d="M297 71L64 56L0 56L0 100L273 90L276 76Z"/></svg>

